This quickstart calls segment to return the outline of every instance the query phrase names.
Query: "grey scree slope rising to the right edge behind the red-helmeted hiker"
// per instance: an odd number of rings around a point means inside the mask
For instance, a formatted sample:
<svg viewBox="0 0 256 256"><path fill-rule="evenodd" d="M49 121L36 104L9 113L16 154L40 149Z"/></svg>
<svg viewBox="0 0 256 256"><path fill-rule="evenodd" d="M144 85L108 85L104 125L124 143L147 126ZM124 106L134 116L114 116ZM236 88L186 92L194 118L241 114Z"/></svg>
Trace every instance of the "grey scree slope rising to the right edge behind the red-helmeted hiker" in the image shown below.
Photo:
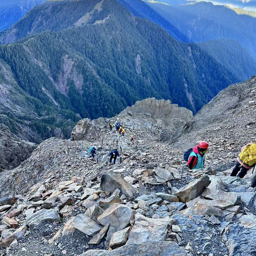
<svg viewBox="0 0 256 256"><path fill-rule="evenodd" d="M210 143L208 158L234 162L242 146L256 138L256 76L222 90L170 140L187 149L199 140ZM223 163L222 163L223 164ZM230 165L230 164L229 164Z"/></svg>

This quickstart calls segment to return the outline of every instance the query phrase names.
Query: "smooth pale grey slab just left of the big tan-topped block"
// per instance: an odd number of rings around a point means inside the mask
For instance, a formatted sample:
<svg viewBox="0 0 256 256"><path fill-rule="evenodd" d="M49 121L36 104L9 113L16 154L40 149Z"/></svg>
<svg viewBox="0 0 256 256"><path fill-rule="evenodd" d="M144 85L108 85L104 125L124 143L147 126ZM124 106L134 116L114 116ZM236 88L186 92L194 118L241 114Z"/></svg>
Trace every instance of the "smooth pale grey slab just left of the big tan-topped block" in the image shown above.
<svg viewBox="0 0 256 256"><path fill-rule="evenodd" d="M103 228L102 225L98 224L96 221L92 220L85 214L78 214L73 219L73 225L76 229L80 230L88 236L94 236Z"/></svg>

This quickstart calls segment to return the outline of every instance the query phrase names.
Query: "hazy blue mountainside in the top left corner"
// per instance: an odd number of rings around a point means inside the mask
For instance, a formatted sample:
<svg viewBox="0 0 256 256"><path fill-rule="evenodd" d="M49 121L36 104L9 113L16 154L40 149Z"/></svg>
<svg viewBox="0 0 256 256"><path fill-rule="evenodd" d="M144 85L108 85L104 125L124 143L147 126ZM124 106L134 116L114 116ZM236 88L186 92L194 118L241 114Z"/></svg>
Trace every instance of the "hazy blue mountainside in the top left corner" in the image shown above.
<svg viewBox="0 0 256 256"><path fill-rule="evenodd" d="M1 0L0 1L0 31L10 28L20 20L31 8L46 0Z"/></svg>

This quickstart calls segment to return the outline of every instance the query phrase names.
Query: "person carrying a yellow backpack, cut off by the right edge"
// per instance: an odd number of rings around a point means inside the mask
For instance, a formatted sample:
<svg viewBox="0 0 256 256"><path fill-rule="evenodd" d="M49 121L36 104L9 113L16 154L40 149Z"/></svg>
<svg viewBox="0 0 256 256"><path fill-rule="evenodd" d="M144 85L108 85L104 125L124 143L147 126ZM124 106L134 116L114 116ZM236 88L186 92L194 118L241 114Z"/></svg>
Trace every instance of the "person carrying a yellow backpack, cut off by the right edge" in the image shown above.
<svg viewBox="0 0 256 256"><path fill-rule="evenodd" d="M255 139L256 141L256 139ZM238 158L236 158L236 166L234 167L230 176L236 176L244 178L247 174L247 171L254 167L256 164L256 143L249 142L247 145L241 148L241 153L239 154ZM252 179L252 188L256 187L256 178Z"/></svg>

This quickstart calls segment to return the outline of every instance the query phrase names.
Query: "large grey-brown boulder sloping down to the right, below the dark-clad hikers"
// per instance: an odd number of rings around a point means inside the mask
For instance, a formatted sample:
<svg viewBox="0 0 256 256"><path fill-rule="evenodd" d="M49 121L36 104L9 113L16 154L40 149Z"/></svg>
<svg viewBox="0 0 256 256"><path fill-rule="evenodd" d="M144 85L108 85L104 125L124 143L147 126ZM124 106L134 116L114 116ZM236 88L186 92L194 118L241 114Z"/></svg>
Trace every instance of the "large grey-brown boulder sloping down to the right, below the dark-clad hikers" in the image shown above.
<svg viewBox="0 0 256 256"><path fill-rule="evenodd" d="M122 194L125 194L128 197L132 197L136 193L134 187L118 174L103 174L101 177L100 188L105 191L110 191L111 193L118 188Z"/></svg>

